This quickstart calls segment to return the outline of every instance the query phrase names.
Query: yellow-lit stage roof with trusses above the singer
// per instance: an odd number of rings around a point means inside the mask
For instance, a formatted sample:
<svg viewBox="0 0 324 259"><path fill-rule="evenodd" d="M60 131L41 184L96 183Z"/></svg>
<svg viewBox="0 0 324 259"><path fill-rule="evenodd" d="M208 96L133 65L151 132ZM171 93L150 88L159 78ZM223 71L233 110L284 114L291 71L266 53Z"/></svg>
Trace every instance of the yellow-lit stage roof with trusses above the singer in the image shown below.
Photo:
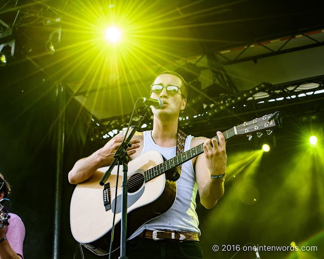
<svg viewBox="0 0 324 259"><path fill-rule="evenodd" d="M92 141L109 139L125 127L136 99L149 96L152 79L163 70L178 71L189 82L180 125L193 134L209 134L206 128L214 130L215 123L225 130L227 124L274 112L274 107L285 107L286 116L322 111L324 19L315 2L126 3L1 1L0 40L16 44L12 61L0 67L7 82L28 77L17 73L25 64L51 87L62 83L69 92L68 101L75 99L88 111ZM89 62L96 59L94 52L78 59L87 46L88 50L93 47L91 34L80 37L77 33L91 26L90 17L100 15L99 11L91 14L96 9L110 14L127 10L129 16L138 12L141 19L133 15L132 21L146 22L133 36L147 42L147 51L134 46L133 64L122 58L123 69L117 72L111 64L100 74L100 62ZM48 53L44 42L53 35L57 50ZM83 52L75 52L77 48ZM145 123L151 127L150 120Z"/></svg>

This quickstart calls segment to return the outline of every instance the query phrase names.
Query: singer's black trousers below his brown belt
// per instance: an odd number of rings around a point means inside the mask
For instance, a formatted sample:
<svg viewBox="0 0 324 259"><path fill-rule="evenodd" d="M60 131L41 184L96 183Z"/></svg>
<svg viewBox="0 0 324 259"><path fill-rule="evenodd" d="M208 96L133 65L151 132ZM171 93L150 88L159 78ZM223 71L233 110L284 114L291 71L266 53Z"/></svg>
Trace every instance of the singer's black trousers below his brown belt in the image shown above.
<svg viewBox="0 0 324 259"><path fill-rule="evenodd" d="M126 244L126 255L129 259L198 259L203 258L203 250L199 241L174 242L167 239L153 240L135 237ZM118 249L112 253L112 258L120 256Z"/></svg>

